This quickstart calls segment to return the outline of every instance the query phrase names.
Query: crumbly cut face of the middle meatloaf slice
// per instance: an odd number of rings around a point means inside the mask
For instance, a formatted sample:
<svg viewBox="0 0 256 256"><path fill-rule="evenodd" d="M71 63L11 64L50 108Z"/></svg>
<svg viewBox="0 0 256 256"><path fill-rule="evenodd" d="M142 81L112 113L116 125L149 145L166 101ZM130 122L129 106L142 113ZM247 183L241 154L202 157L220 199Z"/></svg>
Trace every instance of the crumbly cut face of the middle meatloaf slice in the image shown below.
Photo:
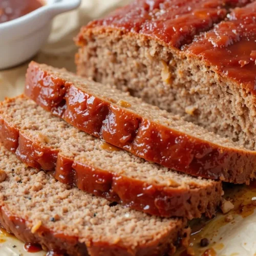
<svg viewBox="0 0 256 256"><path fill-rule="evenodd" d="M108 150L111 145L79 131L25 96L3 102L0 115L38 144L58 149L61 155L82 164L91 164L111 173L166 187L193 189L218 183L175 172L119 148Z"/></svg>

